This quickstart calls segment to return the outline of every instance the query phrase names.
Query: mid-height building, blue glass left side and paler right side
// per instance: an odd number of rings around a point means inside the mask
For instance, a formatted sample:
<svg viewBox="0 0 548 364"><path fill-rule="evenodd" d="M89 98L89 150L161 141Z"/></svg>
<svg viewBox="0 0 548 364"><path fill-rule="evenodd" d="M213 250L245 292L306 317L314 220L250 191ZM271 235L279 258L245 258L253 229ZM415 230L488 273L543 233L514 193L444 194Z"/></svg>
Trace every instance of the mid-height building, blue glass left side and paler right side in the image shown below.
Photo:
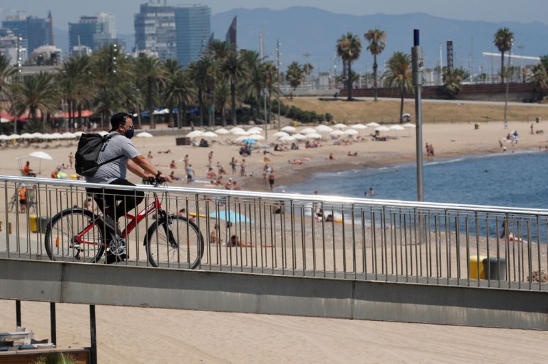
<svg viewBox="0 0 548 364"><path fill-rule="evenodd" d="M116 39L114 15L99 13L93 16L80 16L78 23L69 23L69 50L73 53L81 51L82 46L96 50L111 43L119 43Z"/></svg>

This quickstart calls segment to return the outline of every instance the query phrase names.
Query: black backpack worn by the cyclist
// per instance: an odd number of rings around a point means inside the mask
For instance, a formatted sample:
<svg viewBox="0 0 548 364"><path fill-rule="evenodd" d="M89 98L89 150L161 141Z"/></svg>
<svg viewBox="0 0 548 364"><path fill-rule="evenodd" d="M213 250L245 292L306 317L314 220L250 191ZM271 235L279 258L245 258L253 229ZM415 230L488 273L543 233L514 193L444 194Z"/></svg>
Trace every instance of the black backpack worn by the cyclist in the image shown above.
<svg viewBox="0 0 548 364"><path fill-rule="evenodd" d="M102 163L97 163L99 158L99 152L103 145L112 138L114 135L101 136L96 133L82 134L80 141L78 142L78 149L75 154L76 173L79 175L92 176L97 169L102 165L114 162L116 159L120 159L123 156L117 156L109 160L105 160Z"/></svg>

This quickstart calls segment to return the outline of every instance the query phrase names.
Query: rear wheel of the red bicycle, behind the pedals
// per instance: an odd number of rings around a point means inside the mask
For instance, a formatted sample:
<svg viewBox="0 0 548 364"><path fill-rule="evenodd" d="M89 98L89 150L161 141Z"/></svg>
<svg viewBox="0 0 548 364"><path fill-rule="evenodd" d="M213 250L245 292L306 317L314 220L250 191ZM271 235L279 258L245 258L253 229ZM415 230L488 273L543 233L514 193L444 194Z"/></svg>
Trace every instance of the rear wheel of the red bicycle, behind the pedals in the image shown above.
<svg viewBox="0 0 548 364"><path fill-rule="evenodd" d="M103 224L91 211L69 208L55 215L47 225L45 247L51 260L72 260L97 263L105 252ZM90 227L82 236L84 243L75 243L75 236Z"/></svg>

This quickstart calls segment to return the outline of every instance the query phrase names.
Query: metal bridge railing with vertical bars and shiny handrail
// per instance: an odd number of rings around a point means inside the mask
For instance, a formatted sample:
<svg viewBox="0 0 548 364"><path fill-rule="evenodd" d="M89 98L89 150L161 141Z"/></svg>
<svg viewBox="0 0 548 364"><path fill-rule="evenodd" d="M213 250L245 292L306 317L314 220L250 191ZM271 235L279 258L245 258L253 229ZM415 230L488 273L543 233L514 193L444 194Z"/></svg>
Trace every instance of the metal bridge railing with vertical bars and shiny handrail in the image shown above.
<svg viewBox="0 0 548 364"><path fill-rule="evenodd" d="M49 244L55 260L89 262L101 246L109 247L108 241L117 247L119 241L97 225L95 214L102 215L101 210L86 193L86 187L105 185L11 176L0 176L0 181L0 256L49 260ZM548 210L162 186L116 188L145 193L145 202L132 215L145 206L150 210L123 236L128 258L114 261L116 265L185 269L196 263L196 269L215 271L548 290L542 282L548 267ZM21 189L25 205L18 201ZM153 193L165 217L153 207ZM63 210L74 214L66 221L64 216L56 219ZM169 223L160 228L164 220ZM78 251L73 237L92 221L95 228L83 239L101 243ZM122 217L122 230L130 222ZM166 242L169 234L176 245ZM103 251L95 260L105 264L106 256Z"/></svg>

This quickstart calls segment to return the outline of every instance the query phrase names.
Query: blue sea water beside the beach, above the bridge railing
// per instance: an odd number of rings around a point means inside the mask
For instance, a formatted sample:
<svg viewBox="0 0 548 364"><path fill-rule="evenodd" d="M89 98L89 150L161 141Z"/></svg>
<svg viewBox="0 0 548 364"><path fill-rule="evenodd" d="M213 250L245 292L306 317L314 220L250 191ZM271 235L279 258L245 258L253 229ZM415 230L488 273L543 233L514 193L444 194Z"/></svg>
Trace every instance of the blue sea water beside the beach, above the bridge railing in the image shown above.
<svg viewBox="0 0 548 364"><path fill-rule="evenodd" d="M521 151L426 160L426 202L548 208L547 151ZM375 195L369 195L369 188ZM414 163L339 172L321 172L299 184L278 186L286 193L416 201ZM364 195L366 192L366 195Z"/></svg>

